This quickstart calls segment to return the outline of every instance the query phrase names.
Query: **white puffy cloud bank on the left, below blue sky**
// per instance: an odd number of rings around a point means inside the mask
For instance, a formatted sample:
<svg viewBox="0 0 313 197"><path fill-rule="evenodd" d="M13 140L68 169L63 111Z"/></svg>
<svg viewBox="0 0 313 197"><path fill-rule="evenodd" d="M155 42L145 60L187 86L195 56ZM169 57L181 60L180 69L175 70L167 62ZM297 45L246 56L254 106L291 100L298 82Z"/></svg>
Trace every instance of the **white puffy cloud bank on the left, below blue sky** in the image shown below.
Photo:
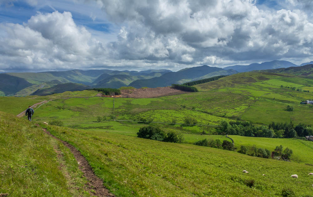
<svg viewBox="0 0 313 197"><path fill-rule="evenodd" d="M0 24L0 59L6 69L79 68L105 55L102 44L70 12L38 12L23 25Z"/></svg>

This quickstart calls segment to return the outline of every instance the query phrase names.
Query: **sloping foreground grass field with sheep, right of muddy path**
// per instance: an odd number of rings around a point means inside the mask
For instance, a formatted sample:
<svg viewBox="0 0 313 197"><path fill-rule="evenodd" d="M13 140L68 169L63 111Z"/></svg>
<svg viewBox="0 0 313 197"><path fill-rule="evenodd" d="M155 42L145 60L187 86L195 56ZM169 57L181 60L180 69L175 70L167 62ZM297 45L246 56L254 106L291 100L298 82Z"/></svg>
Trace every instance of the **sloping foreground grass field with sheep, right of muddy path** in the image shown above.
<svg viewBox="0 0 313 197"><path fill-rule="evenodd" d="M310 165L103 131L48 129L77 147L118 196L281 196L283 188L309 196L312 190Z"/></svg>

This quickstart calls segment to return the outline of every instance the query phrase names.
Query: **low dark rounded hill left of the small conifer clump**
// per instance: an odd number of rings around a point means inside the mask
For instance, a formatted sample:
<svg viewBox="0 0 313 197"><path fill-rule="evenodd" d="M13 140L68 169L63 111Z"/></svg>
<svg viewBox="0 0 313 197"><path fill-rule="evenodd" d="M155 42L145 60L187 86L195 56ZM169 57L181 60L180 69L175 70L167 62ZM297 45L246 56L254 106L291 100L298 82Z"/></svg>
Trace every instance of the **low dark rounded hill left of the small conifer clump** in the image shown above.
<svg viewBox="0 0 313 197"><path fill-rule="evenodd" d="M53 87L49 87L45 89L38 89L37 91L33 92L31 95L46 96L50 94L63 93L65 91L81 91L81 90L86 90L86 89L90 89L90 86L85 86L83 84L77 84L77 83L62 83Z"/></svg>

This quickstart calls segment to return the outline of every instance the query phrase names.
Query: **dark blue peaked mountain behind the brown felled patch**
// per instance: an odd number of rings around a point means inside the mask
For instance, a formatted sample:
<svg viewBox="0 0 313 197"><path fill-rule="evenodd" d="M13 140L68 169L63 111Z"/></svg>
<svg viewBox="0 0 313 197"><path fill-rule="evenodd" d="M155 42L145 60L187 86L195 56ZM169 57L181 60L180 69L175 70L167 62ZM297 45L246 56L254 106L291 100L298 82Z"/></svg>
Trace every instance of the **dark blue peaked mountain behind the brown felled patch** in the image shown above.
<svg viewBox="0 0 313 197"><path fill-rule="evenodd" d="M210 73L214 73L209 75ZM164 87L174 84L182 84L189 81L208 78L210 76L231 75L234 71L225 71L222 68L210 67L207 65L182 69L177 72L165 73L160 77L154 77L146 80L136 80L129 84L135 88L141 87Z"/></svg>

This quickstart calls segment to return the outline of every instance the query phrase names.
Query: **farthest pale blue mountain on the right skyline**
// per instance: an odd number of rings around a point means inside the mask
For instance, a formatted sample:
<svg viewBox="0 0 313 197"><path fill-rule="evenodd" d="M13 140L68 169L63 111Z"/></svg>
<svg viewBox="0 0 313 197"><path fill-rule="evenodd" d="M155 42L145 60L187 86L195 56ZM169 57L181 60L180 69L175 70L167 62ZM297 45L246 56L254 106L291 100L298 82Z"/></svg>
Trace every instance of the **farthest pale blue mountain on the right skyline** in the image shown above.
<svg viewBox="0 0 313 197"><path fill-rule="evenodd" d="M290 66L297 66L288 61L279 61L274 60L271 62L263 62L263 63L252 63L249 65L235 65L235 66L227 66L224 67L225 70L233 69L238 72L248 72L254 70L265 70L265 69L275 69L275 68L287 68Z"/></svg>

